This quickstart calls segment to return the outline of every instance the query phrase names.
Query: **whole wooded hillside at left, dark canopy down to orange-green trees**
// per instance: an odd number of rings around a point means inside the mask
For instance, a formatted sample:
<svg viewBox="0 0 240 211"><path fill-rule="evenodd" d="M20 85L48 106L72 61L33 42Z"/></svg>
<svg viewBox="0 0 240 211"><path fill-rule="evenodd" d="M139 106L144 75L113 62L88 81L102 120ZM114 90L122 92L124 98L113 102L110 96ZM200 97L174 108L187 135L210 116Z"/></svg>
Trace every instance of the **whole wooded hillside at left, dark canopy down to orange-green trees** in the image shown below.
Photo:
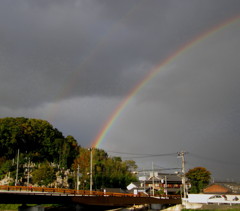
<svg viewBox="0 0 240 211"><path fill-rule="evenodd" d="M19 154L18 154L19 153ZM125 188L136 181L134 161L93 149L93 188ZM19 155L19 156L18 156ZM18 169L17 169L18 166ZM90 151L49 122L24 117L0 119L0 180L14 185L89 188Z"/></svg>

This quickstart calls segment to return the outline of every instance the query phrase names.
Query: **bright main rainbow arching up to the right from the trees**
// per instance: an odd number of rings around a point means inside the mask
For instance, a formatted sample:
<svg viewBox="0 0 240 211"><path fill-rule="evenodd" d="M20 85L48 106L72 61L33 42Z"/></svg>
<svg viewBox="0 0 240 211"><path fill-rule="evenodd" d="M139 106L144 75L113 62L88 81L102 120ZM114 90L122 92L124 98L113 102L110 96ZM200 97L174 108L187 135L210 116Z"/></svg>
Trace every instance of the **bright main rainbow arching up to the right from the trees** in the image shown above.
<svg viewBox="0 0 240 211"><path fill-rule="evenodd" d="M194 39L192 39L190 42L185 43L183 46L178 48L173 54L168 56L165 60L163 60L161 63L159 63L157 66L152 68L149 73L135 85L135 87L128 93L128 95L122 100L122 102L116 107L114 112L111 114L111 116L108 118L108 120L105 122L102 129L99 131L95 139L92 141L92 147L98 148L100 144L103 142L104 138L106 137L107 133L112 128L114 122L118 119L118 117L122 114L123 110L127 107L127 105L131 102L133 97L152 79L154 78L160 70L166 66L167 64L171 63L174 59L178 57L178 55L184 53L185 51L189 50L193 46L197 45L199 42L203 41L207 37L211 36L214 33L217 33L218 31L224 29L228 25L233 25L237 21L240 20L240 15L234 16L224 22L221 22L220 24L214 26L213 28L201 33Z"/></svg>

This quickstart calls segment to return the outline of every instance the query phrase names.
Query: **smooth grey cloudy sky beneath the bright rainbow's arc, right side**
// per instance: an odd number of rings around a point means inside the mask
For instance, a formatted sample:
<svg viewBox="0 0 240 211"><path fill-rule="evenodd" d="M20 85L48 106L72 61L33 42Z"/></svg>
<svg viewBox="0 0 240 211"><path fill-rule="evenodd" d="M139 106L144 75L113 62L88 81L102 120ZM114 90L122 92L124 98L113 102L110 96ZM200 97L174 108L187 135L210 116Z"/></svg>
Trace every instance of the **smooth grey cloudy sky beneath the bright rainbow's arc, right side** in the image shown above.
<svg viewBox="0 0 240 211"><path fill-rule="evenodd" d="M154 154L183 149L189 152L188 168L205 166L217 179L238 181L239 37L237 22L162 67L125 109L103 146L123 151L128 145L131 152Z"/></svg>

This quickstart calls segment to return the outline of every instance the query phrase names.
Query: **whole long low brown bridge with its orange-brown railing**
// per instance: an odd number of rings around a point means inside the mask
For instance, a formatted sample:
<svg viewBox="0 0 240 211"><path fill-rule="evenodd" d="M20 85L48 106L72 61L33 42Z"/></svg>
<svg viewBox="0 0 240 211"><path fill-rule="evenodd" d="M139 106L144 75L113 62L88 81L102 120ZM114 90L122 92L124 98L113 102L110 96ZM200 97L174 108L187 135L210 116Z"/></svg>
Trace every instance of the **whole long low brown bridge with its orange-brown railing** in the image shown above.
<svg viewBox="0 0 240 211"><path fill-rule="evenodd" d="M0 186L0 204L79 204L84 206L128 207L138 204L180 204L179 195L145 196L62 188Z"/></svg>

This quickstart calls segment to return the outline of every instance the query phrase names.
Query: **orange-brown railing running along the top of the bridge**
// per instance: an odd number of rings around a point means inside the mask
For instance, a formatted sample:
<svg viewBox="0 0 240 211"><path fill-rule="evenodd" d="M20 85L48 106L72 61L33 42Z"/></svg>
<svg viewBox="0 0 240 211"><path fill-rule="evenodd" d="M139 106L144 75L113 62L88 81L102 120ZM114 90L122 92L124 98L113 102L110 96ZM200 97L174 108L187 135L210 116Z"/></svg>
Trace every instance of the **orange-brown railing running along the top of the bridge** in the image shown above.
<svg viewBox="0 0 240 211"><path fill-rule="evenodd" d="M146 197L145 194L132 194L132 193L114 193L114 192L102 192L102 191L89 191L89 190L74 190L65 188L46 188L46 187L27 187L27 186L8 186L0 185L0 190L3 191L28 191L38 193L51 193L51 194L71 194L82 196L115 196L115 197ZM179 195L158 195L156 198L169 198L179 199Z"/></svg>

